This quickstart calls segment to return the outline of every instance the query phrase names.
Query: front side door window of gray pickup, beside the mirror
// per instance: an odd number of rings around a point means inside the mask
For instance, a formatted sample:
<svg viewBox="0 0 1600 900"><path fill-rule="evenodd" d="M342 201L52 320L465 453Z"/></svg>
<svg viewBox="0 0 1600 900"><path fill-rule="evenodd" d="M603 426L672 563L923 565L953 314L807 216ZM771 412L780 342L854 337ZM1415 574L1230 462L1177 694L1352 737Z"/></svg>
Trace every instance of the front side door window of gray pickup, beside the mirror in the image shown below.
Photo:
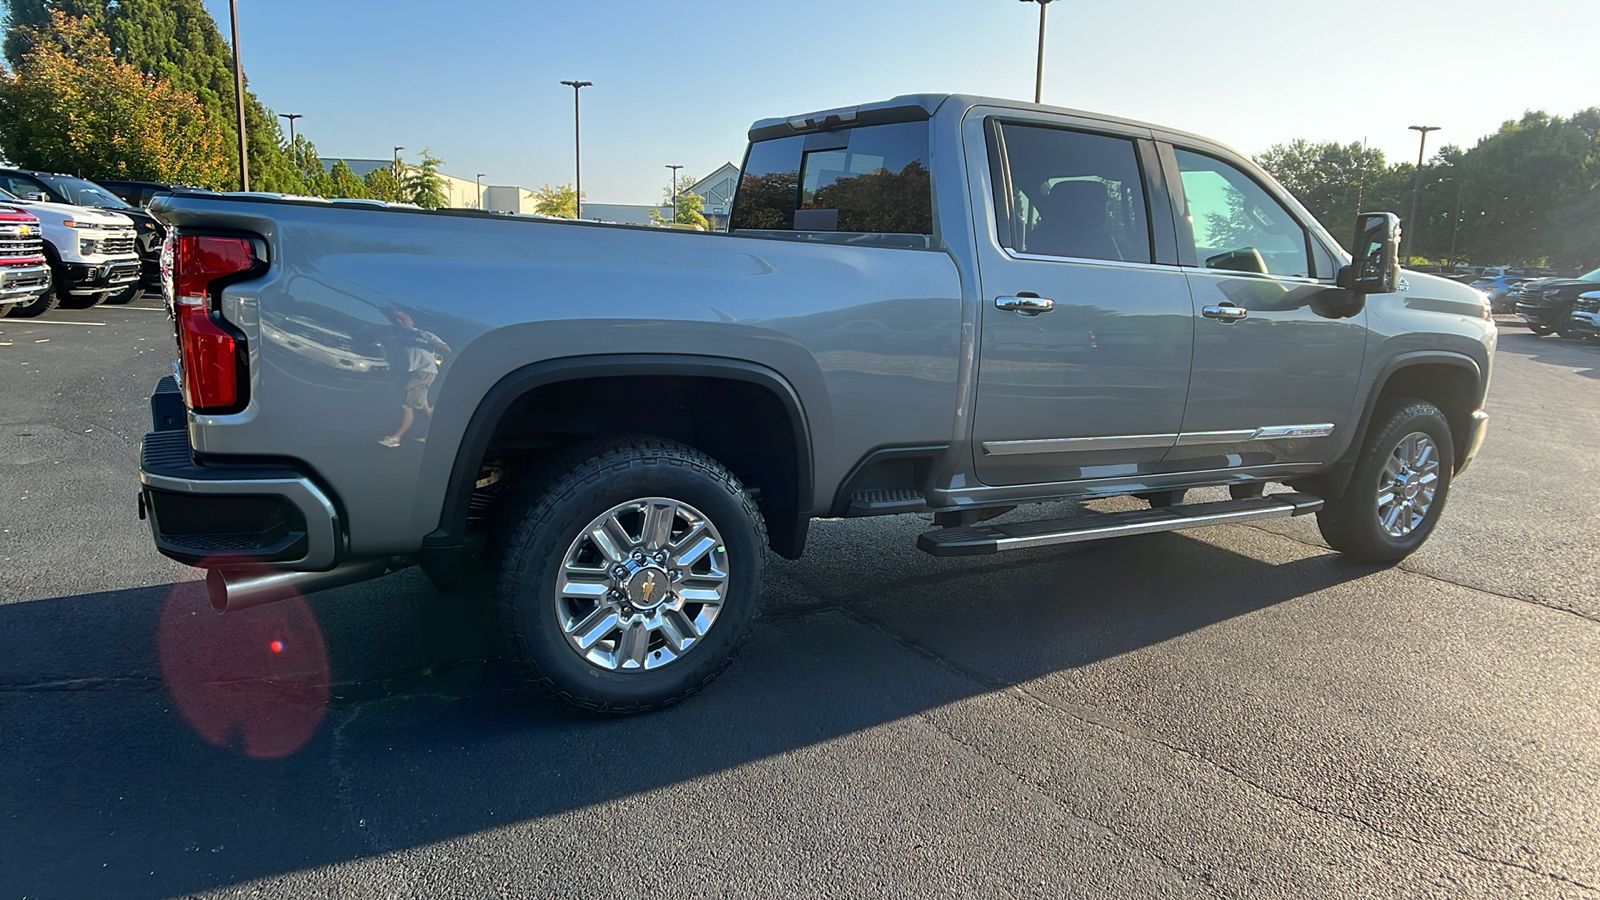
<svg viewBox="0 0 1600 900"><path fill-rule="evenodd" d="M1306 229L1238 168L1190 151L1176 151L1189 203L1195 259L1206 269L1310 275ZM1179 229L1182 231L1182 229ZM1189 240L1179 237L1179 240Z"/></svg>

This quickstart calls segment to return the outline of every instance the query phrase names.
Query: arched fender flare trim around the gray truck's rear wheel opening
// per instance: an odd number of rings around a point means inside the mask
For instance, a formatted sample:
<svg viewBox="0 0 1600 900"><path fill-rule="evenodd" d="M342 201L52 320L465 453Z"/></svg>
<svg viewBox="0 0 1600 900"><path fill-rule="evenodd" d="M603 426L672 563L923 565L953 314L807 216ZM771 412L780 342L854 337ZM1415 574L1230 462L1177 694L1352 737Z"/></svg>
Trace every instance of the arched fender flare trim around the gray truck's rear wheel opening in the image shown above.
<svg viewBox="0 0 1600 900"><path fill-rule="evenodd" d="M419 565L440 589L448 591L454 588L459 578L474 482L488 452L490 439L494 436L499 423L507 416L517 415L520 404L539 388L562 381L614 378L619 375L726 378L762 386L776 396L789 413L789 428L795 442L795 474L798 484L795 485L797 520L792 527L781 530L781 533L790 535L784 541L787 546L774 546L774 549L784 556L800 556L811 520L816 468L805 405L787 378L765 365L741 359L694 354L576 356L534 362L517 368L496 381L483 399L478 400L477 410L474 410L472 418L467 421L467 429L456 448L456 460L450 469L450 484L445 490L445 503L438 516L438 528L422 538L422 546L418 551ZM774 528L774 532L779 532L779 528Z"/></svg>

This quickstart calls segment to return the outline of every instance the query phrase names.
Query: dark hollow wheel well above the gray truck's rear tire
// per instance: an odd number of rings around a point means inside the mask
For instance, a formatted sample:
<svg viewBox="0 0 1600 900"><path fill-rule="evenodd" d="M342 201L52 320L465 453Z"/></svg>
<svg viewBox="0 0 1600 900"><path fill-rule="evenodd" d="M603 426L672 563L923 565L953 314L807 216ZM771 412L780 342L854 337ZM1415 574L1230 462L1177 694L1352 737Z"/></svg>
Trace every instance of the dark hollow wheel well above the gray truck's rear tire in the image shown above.
<svg viewBox="0 0 1600 900"><path fill-rule="evenodd" d="M618 375L555 381L520 396L496 423L472 496L469 528L534 485L542 463L586 440L654 436L701 450L755 496L771 546L798 556L800 453L790 412L768 388L702 375Z"/></svg>

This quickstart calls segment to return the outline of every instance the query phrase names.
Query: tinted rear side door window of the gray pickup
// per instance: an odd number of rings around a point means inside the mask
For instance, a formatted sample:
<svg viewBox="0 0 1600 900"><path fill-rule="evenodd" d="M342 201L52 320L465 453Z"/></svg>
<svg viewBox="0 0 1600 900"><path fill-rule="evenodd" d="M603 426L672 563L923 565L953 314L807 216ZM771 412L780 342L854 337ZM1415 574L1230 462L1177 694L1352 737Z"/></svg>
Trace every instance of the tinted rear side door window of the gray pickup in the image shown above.
<svg viewBox="0 0 1600 900"><path fill-rule="evenodd" d="M1150 218L1133 141L1059 128L1000 125L1010 186L1000 200L1005 247L1043 256L1150 263ZM1010 200L1010 202L1006 202Z"/></svg>

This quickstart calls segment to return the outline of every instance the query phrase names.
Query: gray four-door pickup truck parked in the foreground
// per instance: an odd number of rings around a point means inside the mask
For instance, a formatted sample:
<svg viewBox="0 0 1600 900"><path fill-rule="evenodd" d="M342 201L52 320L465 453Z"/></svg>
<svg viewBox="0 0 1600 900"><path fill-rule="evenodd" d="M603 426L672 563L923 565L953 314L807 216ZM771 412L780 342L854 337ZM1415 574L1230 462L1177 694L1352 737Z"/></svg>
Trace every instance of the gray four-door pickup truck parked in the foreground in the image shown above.
<svg viewBox="0 0 1600 900"><path fill-rule="evenodd" d="M728 234L152 210L160 552L219 610L410 564L448 591L480 552L531 676L590 709L714 677L814 517L931 514L918 546L958 556L1315 512L1395 560L1486 423L1485 298L1402 280L1394 216L1352 258L1248 157L1086 112L757 122ZM1112 495L1149 508L989 522Z"/></svg>

